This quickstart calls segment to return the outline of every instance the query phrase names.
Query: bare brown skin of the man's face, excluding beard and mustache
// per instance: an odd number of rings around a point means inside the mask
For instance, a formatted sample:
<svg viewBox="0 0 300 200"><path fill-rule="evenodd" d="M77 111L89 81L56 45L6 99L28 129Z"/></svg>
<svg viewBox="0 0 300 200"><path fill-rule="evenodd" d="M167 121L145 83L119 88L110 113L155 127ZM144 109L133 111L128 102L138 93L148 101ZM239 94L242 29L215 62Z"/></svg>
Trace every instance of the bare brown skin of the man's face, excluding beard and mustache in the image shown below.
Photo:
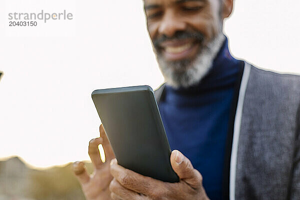
<svg viewBox="0 0 300 200"><path fill-rule="evenodd" d="M232 0L145 0L147 29L152 41L165 35L172 38L176 32L201 32L207 44L220 32L222 21L232 11ZM169 55L167 47L192 45L182 56ZM164 58L169 61L193 58L199 53L200 44L193 38L170 39L160 44ZM177 53L178 55L178 53Z"/></svg>

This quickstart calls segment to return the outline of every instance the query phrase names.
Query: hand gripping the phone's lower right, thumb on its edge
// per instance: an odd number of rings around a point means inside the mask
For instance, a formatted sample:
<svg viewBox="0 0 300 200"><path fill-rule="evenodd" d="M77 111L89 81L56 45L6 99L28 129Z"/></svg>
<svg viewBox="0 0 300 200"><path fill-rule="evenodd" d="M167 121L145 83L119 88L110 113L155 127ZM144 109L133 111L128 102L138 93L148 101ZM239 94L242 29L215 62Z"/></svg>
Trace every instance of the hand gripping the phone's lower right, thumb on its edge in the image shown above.
<svg viewBox="0 0 300 200"><path fill-rule="evenodd" d="M163 182L143 176L110 162L113 180L109 190L111 198L119 199L208 199L202 186L202 176L193 168L191 162L178 150L173 150L170 157L173 170L179 176L179 182Z"/></svg>

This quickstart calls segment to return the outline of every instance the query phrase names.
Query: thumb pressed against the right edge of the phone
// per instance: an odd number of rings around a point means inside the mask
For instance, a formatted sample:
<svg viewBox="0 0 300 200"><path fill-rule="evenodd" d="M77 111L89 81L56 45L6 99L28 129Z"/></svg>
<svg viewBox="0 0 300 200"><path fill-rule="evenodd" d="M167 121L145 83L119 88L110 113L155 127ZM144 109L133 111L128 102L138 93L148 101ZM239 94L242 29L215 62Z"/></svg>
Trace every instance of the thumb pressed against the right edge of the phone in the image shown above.
<svg viewBox="0 0 300 200"><path fill-rule="evenodd" d="M195 189L202 187L202 175L180 151L173 150L170 161L173 170L177 173L180 180L185 181Z"/></svg>

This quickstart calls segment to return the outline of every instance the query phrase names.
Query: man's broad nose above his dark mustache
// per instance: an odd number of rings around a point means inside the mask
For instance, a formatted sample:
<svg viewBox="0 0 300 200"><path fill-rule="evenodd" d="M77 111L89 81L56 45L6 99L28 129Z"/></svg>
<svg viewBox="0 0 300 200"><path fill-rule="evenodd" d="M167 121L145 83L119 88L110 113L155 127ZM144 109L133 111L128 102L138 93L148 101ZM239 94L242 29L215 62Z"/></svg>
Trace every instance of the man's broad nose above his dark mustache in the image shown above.
<svg viewBox="0 0 300 200"><path fill-rule="evenodd" d="M177 31L183 31L186 28L185 22L176 17L175 13L168 11L164 13L161 23L158 27L158 33L171 37Z"/></svg>

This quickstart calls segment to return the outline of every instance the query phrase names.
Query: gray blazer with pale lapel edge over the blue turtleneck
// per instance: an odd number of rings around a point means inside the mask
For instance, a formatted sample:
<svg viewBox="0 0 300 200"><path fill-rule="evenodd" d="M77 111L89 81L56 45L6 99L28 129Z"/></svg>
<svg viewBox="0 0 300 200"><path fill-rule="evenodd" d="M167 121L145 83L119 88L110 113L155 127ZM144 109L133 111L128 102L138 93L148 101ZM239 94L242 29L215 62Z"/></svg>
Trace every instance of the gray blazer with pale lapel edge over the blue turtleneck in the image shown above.
<svg viewBox="0 0 300 200"><path fill-rule="evenodd" d="M300 199L300 76L245 62L233 127L229 199Z"/></svg>

